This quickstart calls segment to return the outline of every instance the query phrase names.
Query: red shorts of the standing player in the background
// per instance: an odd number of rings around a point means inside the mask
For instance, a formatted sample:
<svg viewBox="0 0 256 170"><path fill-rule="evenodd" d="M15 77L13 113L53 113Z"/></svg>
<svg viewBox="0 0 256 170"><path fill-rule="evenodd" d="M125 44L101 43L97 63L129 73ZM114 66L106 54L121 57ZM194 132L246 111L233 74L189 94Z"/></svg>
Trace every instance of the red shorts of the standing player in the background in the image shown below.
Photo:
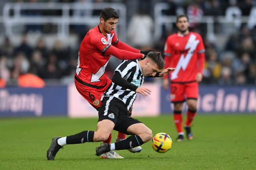
<svg viewBox="0 0 256 170"><path fill-rule="evenodd" d="M198 82L171 83L171 102L185 102L198 98Z"/></svg>

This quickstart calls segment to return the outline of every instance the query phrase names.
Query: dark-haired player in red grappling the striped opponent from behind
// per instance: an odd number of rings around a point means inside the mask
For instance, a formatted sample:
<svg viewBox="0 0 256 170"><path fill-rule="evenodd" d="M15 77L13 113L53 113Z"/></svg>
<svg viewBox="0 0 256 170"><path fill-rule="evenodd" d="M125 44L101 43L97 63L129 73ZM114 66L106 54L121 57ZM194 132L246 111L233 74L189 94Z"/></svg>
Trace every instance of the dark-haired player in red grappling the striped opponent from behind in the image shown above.
<svg viewBox="0 0 256 170"><path fill-rule="evenodd" d="M78 54L78 66L75 84L78 92L98 110L102 94L111 84L105 73L110 55L118 59L140 59L149 51L140 51L118 40L114 31L118 22L118 13L113 8L104 8L100 14L100 23L90 29L81 45ZM126 139L124 133L118 132L118 139ZM110 143L110 138L104 143ZM130 149L139 152L141 148ZM102 155L103 158L121 158L115 152Z"/></svg>

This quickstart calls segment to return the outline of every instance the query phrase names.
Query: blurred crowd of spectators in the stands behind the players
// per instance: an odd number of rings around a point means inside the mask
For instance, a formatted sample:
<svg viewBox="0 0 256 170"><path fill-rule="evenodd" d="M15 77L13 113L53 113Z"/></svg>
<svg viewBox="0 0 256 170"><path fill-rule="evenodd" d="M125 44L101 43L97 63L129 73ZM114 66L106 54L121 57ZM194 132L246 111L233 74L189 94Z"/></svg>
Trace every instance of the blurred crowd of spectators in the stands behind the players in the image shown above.
<svg viewBox="0 0 256 170"><path fill-rule="evenodd" d="M15 2L49 2L47 0L16 0ZM152 39L154 33L154 14L152 8L157 2L168 3L165 15L176 16L186 13L190 20L190 30L199 32L206 48L206 63L204 69L204 84L220 85L256 85L256 29L250 23L235 22L238 16L252 15L256 0L54 0L51 2L122 2L127 6L128 28L127 42L132 47L144 50L163 51L168 35L176 32L176 27L164 26L164 33L159 40ZM131 4L137 4L136 12L130 10ZM100 11L93 11L99 14ZM44 15L40 11L27 11L28 15ZM76 12L73 12L74 14ZM254 13L255 14L255 13ZM130 17L129 17L130 16ZM223 26L214 23L214 32L226 36L220 45L218 37L206 37L205 25L198 23L203 16L226 16L234 20L234 24ZM256 18L256 16L254 16ZM122 20L122 18L120 18ZM49 33L47 25L38 27L28 25L22 35L22 42L14 46L9 37L0 44L0 86L19 84L18 78L24 74L33 74L43 80L70 82L74 79L77 65L79 44L90 27L76 25L73 29L80 38L78 47L64 47L62 41L56 40L52 48L45 45L44 34ZM29 45L27 35L31 31L40 31L42 37L35 45ZM51 29L50 29L51 30ZM136 37L136 38L134 38ZM121 40L122 41L122 40ZM117 63L118 64L118 63ZM117 64L109 64L107 72L111 74ZM152 79L147 79L152 81Z"/></svg>

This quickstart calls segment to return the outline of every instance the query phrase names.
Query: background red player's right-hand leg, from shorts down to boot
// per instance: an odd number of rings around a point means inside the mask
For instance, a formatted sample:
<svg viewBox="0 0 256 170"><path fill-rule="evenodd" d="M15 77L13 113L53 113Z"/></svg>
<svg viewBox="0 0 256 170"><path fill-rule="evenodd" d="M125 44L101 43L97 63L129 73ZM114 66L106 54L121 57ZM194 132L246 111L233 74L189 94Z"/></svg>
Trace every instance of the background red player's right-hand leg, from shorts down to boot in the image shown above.
<svg viewBox="0 0 256 170"><path fill-rule="evenodd" d="M198 98L198 83L192 82L186 84L186 96L187 96L187 119L185 122L186 137L188 140L193 139L193 133L191 130L191 123L196 116L197 98Z"/></svg>

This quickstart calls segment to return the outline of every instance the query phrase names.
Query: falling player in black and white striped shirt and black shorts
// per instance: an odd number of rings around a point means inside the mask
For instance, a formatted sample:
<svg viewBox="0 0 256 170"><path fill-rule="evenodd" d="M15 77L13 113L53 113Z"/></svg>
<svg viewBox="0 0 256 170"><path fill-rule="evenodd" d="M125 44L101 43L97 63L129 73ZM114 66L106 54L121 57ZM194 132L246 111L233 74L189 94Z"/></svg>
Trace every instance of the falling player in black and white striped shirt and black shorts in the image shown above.
<svg viewBox="0 0 256 170"><path fill-rule="evenodd" d="M157 52L148 53L147 57L140 61L138 59L123 61L116 68L112 83L102 96L102 104L98 111L97 130L82 131L75 135L53 138L50 151L53 151L54 154L51 155L55 157L58 150L64 145L104 141L108 139L113 129L131 136L116 143L105 143L97 147L97 156L111 150L138 147L152 139L152 131L142 122L130 117L128 110L137 93L143 96L150 95L151 91L142 87L145 76L162 77L174 70L174 68L166 68L162 71L163 68L164 60Z"/></svg>

